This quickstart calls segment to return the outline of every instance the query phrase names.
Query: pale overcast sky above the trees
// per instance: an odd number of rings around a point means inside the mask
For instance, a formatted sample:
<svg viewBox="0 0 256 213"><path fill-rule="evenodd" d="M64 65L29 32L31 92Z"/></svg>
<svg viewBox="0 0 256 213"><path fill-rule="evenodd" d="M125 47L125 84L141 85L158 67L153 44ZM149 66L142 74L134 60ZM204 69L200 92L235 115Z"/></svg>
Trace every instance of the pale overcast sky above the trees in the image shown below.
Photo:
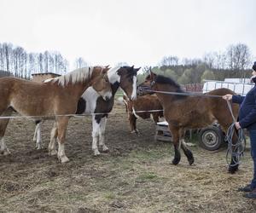
<svg viewBox="0 0 256 213"><path fill-rule="evenodd" d="M0 43L56 50L71 66L154 66L236 43L256 60L255 0L0 0L0 11Z"/></svg>

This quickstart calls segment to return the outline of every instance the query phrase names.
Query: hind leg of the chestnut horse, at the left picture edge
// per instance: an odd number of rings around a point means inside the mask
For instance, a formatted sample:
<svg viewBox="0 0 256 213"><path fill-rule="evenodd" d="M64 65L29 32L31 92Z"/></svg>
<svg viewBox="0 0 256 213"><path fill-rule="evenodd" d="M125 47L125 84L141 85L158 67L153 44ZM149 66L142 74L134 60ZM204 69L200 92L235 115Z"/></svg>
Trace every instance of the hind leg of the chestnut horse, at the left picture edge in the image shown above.
<svg viewBox="0 0 256 213"><path fill-rule="evenodd" d="M2 116L10 116L13 110L11 108L7 109L5 112L2 113ZM4 134L9 123L9 118L0 119L0 153L3 155L9 155L9 149L5 144L4 141Z"/></svg>

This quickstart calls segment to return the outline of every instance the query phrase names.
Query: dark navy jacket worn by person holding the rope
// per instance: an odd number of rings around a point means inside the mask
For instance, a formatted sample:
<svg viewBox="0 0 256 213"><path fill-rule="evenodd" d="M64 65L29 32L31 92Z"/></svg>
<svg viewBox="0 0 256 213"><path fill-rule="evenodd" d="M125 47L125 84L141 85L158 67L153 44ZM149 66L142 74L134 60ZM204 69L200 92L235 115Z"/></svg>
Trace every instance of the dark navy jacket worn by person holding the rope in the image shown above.
<svg viewBox="0 0 256 213"><path fill-rule="evenodd" d="M232 102L241 104L239 109L241 128L256 130L256 86L246 96L233 95Z"/></svg>

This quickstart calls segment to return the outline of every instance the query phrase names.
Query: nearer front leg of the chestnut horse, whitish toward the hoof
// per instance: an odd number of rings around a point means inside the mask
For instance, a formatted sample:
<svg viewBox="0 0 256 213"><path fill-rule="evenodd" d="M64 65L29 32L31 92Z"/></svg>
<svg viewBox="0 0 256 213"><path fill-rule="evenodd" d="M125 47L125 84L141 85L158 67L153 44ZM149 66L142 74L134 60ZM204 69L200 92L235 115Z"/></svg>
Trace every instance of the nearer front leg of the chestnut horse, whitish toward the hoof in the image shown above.
<svg viewBox="0 0 256 213"><path fill-rule="evenodd" d="M58 158L61 160L61 163L66 163L69 161L69 159L66 156L65 153L65 137L67 132L67 124L68 124L68 117L61 117L57 119L57 126L58 126Z"/></svg>

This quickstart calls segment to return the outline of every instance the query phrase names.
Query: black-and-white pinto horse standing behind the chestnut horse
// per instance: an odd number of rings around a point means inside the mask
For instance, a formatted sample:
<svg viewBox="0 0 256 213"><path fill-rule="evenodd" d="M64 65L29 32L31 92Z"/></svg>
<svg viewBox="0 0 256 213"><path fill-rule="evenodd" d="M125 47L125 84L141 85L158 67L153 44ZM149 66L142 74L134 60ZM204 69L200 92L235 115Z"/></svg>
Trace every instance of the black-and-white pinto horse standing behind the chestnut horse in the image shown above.
<svg viewBox="0 0 256 213"><path fill-rule="evenodd" d="M108 113L113 109L114 95L119 87L124 91L130 100L137 98L137 72L140 68L133 66L117 66L108 71L108 79L111 84L112 98L108 101L96 93L96 90L89 87L78 101L76 114L92 113L92 151L94 156L100 154L97 144L102 148L102 152L108 152L105 145L105 129ZM54 124L50 134L49 150L55 150L55 138L58 135L56 125ZM37 141L37 147L40 145L40 122L35 130L34 139Z"/></svg>

